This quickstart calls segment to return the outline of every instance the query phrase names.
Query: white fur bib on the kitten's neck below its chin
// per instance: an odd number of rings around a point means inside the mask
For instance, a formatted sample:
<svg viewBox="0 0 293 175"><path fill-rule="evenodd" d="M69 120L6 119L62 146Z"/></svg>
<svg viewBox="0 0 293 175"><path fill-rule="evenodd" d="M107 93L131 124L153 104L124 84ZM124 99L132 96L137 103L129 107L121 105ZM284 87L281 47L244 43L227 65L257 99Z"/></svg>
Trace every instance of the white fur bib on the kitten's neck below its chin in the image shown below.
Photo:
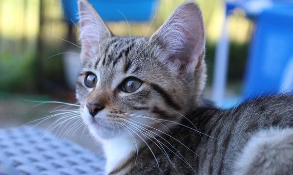
<svg viewBox="0 0 293 175"><path fill-rule="evenodd" d="M136 146L140 145L140 142L135 141L136 143L127 135L102 141L106 157L106 174L119 168L128 157L137 151Z"/></svg>

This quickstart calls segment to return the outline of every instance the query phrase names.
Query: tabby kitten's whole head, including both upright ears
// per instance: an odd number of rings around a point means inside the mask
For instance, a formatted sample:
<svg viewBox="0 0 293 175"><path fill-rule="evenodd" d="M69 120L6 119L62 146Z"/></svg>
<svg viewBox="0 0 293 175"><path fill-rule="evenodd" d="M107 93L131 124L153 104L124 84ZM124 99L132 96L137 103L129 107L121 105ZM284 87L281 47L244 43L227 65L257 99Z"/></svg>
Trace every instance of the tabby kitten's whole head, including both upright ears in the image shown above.
<svg viewBox="0 0 293 175"><path fill-rule="evenodd" d="M79 0L79 13L76 96L98 138L171 127L201 103L205 30L195 2L180 5L150 38L113 35L86 0Z"/></svg>

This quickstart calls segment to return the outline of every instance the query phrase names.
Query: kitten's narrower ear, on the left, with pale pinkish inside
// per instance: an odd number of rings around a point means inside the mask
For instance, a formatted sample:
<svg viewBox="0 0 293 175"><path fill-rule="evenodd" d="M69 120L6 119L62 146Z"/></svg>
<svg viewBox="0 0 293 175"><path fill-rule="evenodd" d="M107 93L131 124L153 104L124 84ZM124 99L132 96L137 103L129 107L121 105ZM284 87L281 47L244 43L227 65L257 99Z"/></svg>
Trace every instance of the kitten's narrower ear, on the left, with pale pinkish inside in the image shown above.
<svg viewBox="0 0 293 175"><path fill-rule="evenodd" d="M105 22L87 0L78 1L82 55L90 56L105 38L112 36Z"/></svg>

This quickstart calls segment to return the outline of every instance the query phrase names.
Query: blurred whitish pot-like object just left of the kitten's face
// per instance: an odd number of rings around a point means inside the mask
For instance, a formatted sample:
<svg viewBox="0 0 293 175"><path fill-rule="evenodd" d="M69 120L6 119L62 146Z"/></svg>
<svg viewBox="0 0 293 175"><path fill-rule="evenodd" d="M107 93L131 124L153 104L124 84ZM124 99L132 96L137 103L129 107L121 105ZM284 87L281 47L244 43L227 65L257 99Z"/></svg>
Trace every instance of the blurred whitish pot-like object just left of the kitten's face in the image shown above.
<svg viewBox="0 0 293 175"><path fill-rule="evenodd" d="M74 50L67 51L63 57L63 65L66 83L69 88L75 89L77 77L80 73L81 68L79 53Z"/></svg>

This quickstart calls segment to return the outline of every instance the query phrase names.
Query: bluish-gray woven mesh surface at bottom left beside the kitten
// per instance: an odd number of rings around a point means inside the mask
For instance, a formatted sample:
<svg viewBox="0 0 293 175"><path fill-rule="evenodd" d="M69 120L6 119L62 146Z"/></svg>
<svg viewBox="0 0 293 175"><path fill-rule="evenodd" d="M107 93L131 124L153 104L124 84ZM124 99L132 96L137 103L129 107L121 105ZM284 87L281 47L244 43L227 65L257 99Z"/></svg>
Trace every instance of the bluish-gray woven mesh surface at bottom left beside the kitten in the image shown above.
<svg viewBox="0 0 293 175"><path fill-rule="evenodd" d="M105 159L42 129L0 130L0 175L103 175Z"/></svg>

